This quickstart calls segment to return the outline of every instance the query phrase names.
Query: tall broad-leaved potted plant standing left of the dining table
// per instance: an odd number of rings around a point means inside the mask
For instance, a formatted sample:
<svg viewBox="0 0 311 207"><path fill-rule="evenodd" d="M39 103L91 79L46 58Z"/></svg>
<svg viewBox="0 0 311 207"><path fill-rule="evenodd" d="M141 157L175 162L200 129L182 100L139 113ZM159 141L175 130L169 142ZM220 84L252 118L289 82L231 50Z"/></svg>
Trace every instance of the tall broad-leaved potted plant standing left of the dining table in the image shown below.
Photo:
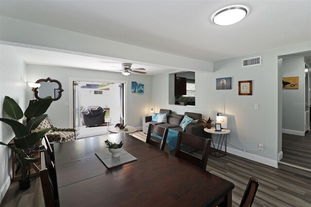
<svg viewBox="0 0 311 207"><path fill-rule="evenodd" d="M34 148L35 143L52 129L48 128L39 132L32 132L41 121L47 117L44 113L48 110L52 101L51 97L36 101L30 104L23 113L14 99L8 96L4 97L3 110L11 119L0 118L0 121L11 126L15 137L12 139L14 145L5 144L3 142L0 142L0 144L8 146L17 155L21 166L21 180L19 181L20 190L30 188L31 163L38 161L36 158L29 157L29 152ZM24 116L29 119L26 126L18 122L18 120L22 119Z"/></svg>

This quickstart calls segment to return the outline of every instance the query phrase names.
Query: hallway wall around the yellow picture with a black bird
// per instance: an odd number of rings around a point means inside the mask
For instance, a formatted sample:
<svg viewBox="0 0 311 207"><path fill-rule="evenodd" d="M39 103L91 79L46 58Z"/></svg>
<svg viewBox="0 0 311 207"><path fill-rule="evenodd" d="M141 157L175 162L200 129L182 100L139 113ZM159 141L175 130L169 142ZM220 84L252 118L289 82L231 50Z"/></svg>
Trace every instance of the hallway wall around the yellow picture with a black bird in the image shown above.
<svg viewBox="0 0 311 207"><path fill-rule="evenodd" d="M305 67L304 58L293 57L284 58L282 64L283 77L299 77L298 89L283 89L283 130L301 132L304 135L305 130Z"/></svg>

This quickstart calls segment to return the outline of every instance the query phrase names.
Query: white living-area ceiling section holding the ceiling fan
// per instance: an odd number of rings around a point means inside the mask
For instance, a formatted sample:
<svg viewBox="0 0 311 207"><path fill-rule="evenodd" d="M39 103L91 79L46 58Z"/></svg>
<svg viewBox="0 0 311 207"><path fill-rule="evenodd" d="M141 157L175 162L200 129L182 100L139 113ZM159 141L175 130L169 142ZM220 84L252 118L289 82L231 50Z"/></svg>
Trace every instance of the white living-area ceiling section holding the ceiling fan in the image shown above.
<svg viewBox="0 0 311 207"><path fill-rule="evenodd" d="M122 68L121 64L124 62L76 54L68 54L62 52L37 50L32 48L22 48L14 46L14 49L27 64L35 64L35 65L60 66L60 67L109 70L109 71L114 70L112 72L122 72L120 70L116 71L118 70L118 68L114 67ZM131 68L132 69L144 68L146 69L145 72L147 72L146 75L155 75L159 73L179 71L170 68L156 67L152 65L141 65L136 63L133 63Z"/></svg>

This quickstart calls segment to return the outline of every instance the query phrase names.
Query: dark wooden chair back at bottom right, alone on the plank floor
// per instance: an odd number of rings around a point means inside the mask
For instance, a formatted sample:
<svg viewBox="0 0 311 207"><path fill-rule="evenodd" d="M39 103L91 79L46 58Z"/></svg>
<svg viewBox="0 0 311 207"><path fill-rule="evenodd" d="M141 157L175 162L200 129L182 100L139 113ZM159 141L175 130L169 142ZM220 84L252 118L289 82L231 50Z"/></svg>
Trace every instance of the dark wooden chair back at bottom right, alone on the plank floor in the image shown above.
<svg viewBox="0 0 311 207"><path fill-rule="evenodd" d="M251 207L255 199L255 195L259 186L259 181L251 177L248 181L240 207Z"/></svg>

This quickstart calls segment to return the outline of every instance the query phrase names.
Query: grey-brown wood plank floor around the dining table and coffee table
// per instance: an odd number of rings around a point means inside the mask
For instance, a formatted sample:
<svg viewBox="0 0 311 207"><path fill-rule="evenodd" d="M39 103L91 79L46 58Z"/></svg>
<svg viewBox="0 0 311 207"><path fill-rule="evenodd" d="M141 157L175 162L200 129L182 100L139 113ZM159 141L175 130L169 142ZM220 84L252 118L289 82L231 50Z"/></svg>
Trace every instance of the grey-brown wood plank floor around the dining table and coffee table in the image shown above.
<svg viewBox="0 0 311 207"><path fill-rule="evenodd" d="M142 131L134 133L134 137L146 139ZM231 154L220 158L210 155L207 171L234 183L233 207L239 206L250 176L260 182L253 207L311 207L311 179L308 177ZM0 206L44 206L40 178L32 178L32 187L25 191L18 190L17 181L11 183Z"/></svg>

